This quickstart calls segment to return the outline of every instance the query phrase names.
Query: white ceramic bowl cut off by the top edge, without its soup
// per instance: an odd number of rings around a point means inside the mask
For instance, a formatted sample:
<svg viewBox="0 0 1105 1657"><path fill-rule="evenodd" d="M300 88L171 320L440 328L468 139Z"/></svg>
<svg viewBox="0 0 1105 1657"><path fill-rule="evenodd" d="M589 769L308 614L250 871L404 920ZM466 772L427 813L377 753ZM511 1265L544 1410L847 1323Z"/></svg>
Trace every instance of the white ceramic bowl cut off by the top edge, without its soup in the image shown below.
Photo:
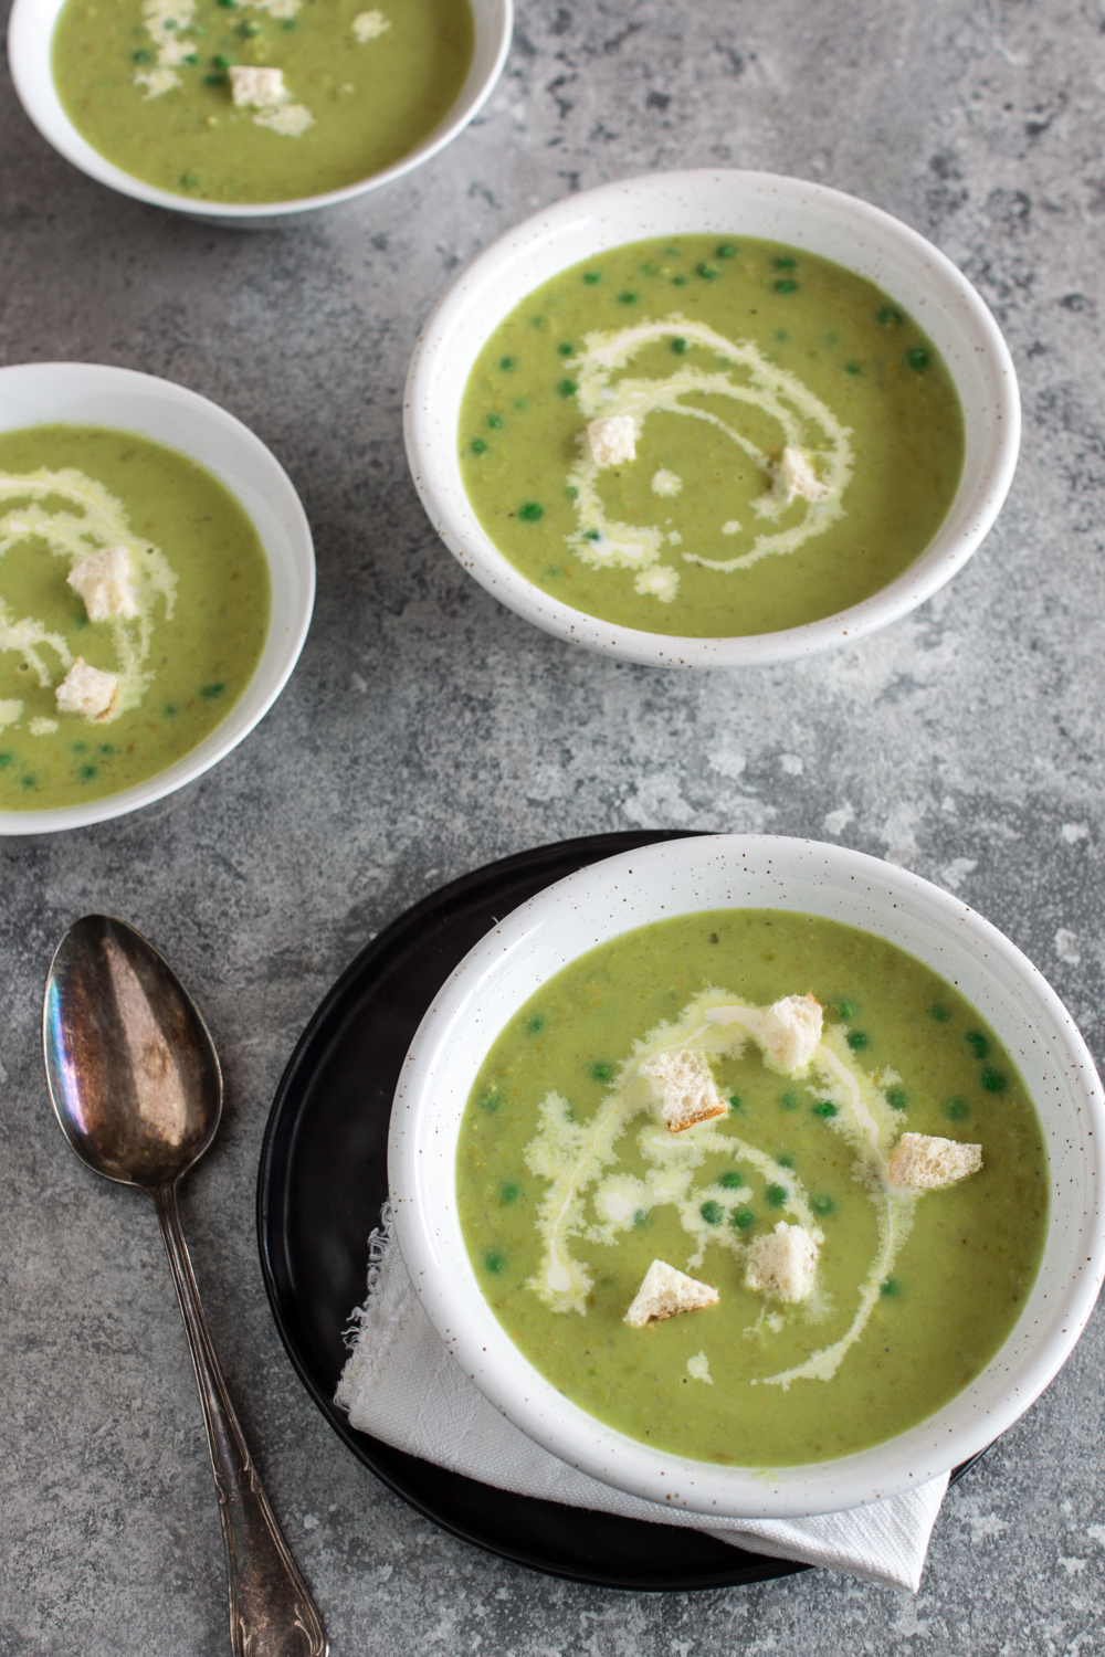
<svg viewBox="0 0 1105 1657"><path fill-rule="evenodd" d="M50 70L53 30L65 0L15 0L8 20L8 66L12 80L15 81L20 103L46 143L53 144L60 156L71 161L89 179L119 191L121 196L133 196L134 200L152 202L154 207L167 207L171 212L187 214L202 224L220 224L239 230L275 230L330 207L341 207L358 200L369 191L383 189L384 184L401 179L413 167L419 167L424 161L429 161L439 149L452 143L457 133L462 133L469 121L482 109L507 61L514 30L514 0L470 0L472 18L475 22L475 50L461 94L434 131L409 154L396 161L393 167L373 172L368 179L346 184L340 191L326 191L323 196L303 196L297 200L205 202L192 200L187 196L174 196L171 191L159 191L154 184L144 184L142 179L136 179L129 172L124 172L123 167L116 167L111 161L106 161L76 131L61 108Z"/></svg>

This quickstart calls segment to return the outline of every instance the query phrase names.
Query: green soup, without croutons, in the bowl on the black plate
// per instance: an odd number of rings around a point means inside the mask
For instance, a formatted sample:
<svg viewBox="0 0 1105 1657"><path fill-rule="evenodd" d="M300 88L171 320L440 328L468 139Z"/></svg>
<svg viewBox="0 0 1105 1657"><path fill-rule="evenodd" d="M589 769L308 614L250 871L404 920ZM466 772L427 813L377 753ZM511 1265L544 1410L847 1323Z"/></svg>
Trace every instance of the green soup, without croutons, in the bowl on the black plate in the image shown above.
<svg viewBox="0 0 1105 1657"><path fill-rule="evenodd" d="M789 1077L752 1009L810 991L822 1044ZM684 1132L641 1074L673 1047L724 1104ZM981 1145L982 1167L891 1186L903 1132ZM466 1107L457 1201L489 1304L568 1399L671 1453L782 1466L903 1432L989 1362L1039 1266L1047 1157L951 984L835 921L716 910L593 949L507 1024ZM799 1304L746 1283L779 1223L820 1238ZM628 1326L654 1259L717 1302Z"/></svg>

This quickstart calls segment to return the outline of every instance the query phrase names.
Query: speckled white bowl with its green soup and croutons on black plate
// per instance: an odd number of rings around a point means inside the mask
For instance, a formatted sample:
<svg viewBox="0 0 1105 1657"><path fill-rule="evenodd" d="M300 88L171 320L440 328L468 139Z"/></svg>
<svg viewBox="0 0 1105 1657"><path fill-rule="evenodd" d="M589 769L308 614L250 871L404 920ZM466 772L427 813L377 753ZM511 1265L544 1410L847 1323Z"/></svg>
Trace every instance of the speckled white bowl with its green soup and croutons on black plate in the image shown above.
<svg viewBox="0 0 1105 1657"><path fill-rule="evenodd" d="M585 868L442 986L389 1142L437 1332L563 1461L795 1516L982 1450L1105 1268L1102 1085L928 882L712 835Z"/></svg>

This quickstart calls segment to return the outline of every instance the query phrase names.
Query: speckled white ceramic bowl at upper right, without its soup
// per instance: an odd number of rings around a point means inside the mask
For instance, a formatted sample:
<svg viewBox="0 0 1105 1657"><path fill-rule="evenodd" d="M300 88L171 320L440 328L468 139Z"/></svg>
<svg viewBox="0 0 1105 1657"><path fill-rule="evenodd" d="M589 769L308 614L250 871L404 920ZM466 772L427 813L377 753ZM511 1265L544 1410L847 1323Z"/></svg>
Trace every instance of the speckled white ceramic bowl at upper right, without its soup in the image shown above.
<svg viewBox="0 0 1105 1657"><path fill-rule="evenodd" d="M858 272L926 330L951 370L966 426L963 479L936 539L881 592L838 615L749 638L676 638L558 603L499 552L464 492L457 428L469 373L527 293L583 258L654 235L754 235ZM449 550L500 603L558 638L666 668L790 661L896 621L959 570L991 529L1021 444L1017 379L989 310L916 230L855 196L770 172L658 172L570 196L509 230L464 270L419 335L404 398L408 461Z"/></svg>

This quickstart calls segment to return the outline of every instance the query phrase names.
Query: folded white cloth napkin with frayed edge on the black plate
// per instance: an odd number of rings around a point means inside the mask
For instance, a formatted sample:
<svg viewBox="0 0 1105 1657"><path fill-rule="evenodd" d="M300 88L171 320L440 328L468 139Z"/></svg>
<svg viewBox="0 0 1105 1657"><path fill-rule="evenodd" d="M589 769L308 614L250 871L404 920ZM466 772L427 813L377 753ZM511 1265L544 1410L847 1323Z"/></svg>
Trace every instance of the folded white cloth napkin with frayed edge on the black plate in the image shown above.
<svg viewBox="0 0 1105 1657"><path fill-rule="evenodd" d="M717 1519L673 1511L580 1473L500 1415L442 1345L391 1238L369 1238L368 1297L353 1312L336 1402L396 1450L525 1496L653 1524L684 1524L774 1559L803 1559L916 1594L948 1475L903 1496L812 1519Z"/></svg>

